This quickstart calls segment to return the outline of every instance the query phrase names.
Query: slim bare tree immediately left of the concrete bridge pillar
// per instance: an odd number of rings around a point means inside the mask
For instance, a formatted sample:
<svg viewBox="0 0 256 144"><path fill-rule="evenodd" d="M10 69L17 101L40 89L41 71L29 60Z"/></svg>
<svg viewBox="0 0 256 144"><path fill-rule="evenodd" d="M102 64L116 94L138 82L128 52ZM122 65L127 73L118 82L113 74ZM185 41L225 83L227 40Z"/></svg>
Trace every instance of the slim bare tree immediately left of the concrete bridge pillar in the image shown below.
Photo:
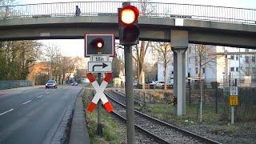
<svg viewBox="0 0 256 144"><path fill-rule="evenodd" d="M173 59L174 59L173 54L171 52L170 43L169 42L154 42L152 47L154 48L154 51L157 51L157 53L153 52L153 54L157 54L158 61L163 62L163 66L164 66L163 75L164 75L164 82L165 82L164 89L167 90L167 86L166 86L167 66L170 65L170 62L173 62Z"/></svg>

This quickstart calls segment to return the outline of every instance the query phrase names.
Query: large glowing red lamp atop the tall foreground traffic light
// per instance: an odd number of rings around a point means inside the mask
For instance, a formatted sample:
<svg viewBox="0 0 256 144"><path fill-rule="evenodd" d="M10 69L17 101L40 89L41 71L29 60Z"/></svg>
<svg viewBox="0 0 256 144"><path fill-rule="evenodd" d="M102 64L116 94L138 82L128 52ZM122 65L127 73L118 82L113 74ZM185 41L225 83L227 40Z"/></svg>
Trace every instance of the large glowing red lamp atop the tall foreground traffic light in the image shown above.
<svg viewBox="0 0 256 144"><path fill-rule="evenodd" d="M120 10L120 21L126 25L130 25L138 19L138 9L135 6L125 6Z"/></svg>

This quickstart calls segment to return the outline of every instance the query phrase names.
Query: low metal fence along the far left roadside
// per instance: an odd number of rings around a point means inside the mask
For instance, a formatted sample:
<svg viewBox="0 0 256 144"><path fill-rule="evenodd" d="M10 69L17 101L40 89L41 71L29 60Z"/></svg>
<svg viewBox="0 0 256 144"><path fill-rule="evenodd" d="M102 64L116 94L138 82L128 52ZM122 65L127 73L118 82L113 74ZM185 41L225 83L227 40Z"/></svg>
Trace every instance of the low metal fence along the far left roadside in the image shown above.
<svg viewBox="0 0 256 144"><path fill-rule="evenodd" d="M26 86L32 86L32 82L27 80L0 81L0 90Z"/></svg>

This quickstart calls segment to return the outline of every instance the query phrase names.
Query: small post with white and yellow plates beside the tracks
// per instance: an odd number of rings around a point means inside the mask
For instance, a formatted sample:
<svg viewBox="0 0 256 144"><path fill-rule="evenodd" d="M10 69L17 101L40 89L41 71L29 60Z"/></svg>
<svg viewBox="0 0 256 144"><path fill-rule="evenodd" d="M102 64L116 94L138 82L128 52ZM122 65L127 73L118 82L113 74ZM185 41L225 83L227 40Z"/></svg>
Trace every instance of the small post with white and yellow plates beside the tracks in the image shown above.
<svg viewBox="0 0 256 144"><path fill-rule="evenodd" d="M238 86L230 86L231 124L234 124L234 106L238 106Z"/></svg>

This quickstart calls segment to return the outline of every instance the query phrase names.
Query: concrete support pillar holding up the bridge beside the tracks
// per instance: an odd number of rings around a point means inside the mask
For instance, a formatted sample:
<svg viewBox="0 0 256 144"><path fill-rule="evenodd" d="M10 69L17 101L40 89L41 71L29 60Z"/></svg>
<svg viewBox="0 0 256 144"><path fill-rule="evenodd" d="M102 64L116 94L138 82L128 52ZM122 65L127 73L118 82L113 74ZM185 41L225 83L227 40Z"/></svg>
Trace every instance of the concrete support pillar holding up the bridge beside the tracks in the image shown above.
<svg viewBox="0 0 256 144"><path fill-rule="evenodd" d="M171 30L170 42L174 51L174 96L177 98L177 115L186 115L186 49L188 32Z"/></svg>

